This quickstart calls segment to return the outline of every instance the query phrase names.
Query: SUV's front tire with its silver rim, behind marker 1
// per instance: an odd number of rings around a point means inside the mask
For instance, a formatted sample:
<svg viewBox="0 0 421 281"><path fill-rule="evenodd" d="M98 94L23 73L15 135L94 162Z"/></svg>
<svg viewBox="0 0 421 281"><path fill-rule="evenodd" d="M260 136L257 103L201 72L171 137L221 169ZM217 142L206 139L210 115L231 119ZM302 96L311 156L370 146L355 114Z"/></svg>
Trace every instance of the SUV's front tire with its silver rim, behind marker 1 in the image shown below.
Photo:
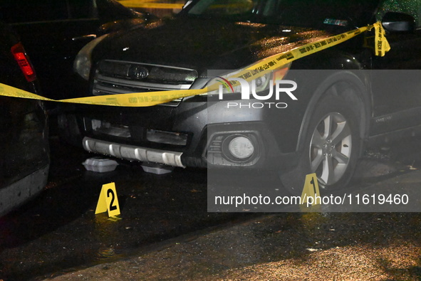
<svg viewBox="0 0 421 281"><path fill-rule="evenodd" d="M308 122L298 166L280 174L284 187L301 195L307 174L316 173L321 193L343 189L360 154L358 108L344 97L326 95Z"/></svg>

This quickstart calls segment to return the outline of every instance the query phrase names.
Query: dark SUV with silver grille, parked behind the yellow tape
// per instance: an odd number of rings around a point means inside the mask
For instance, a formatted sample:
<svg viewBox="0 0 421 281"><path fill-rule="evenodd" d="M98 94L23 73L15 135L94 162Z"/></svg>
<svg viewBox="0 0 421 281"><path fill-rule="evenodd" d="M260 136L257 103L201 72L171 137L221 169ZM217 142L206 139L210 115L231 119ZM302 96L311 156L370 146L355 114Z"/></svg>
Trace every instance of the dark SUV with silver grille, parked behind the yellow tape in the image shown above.
<svg viewBox="0 0 421 281"><path fill-rule="evenodd" d="M187 1L175 18L101 38L85 55L89 94L204 88L377 21L391 51L376 56L370 31L256 79L259 98L241 100L232 88L153 107L78 106L61 116L61 129L90 152L123 159L274 169L293 193L311 172L326 189L345 186L363 144L420 131L420 8L416 0ZM262 100L275 77L297 86L295 99L284 92Z"/></svg>

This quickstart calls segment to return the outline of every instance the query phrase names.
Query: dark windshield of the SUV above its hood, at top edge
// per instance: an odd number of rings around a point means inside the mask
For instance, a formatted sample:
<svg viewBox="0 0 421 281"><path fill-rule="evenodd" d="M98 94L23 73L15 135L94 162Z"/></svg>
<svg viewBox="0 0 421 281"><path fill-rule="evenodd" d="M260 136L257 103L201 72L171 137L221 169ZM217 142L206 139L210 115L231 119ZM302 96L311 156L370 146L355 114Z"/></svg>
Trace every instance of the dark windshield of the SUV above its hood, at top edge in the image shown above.
<svg viewBox="0 0 421 281"><path fill-rule="evenodd" d="M187 14L285 26L348 26L367 24L377 5L374 0L199 0Z"/></svg>

